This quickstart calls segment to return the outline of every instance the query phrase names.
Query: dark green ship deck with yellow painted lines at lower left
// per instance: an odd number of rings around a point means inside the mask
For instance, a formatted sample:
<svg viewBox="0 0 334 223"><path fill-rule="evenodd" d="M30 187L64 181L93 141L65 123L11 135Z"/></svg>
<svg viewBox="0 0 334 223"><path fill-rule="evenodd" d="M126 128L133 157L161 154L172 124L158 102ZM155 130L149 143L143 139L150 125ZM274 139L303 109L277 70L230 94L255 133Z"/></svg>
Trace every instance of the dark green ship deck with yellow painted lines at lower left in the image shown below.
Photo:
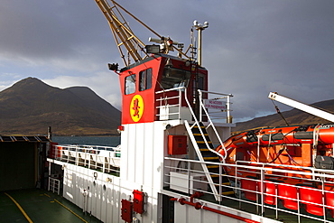
<svg viewBox="0 0 334 223"><path fill-rule="evenodd" d="M0 192L1 222L101 222L82 209L47 190Z"/></svg>

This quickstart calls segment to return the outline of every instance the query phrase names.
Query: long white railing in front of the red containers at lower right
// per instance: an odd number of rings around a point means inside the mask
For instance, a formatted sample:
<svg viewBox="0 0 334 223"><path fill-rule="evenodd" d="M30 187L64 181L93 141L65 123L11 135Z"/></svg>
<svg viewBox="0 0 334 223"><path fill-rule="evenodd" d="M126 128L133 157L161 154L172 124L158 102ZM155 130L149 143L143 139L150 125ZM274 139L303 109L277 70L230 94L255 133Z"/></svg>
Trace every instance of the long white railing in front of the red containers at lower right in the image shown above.
<svg viewBox="0 0 334 223"><path fill-rule="evenodd" d="M199 168L202 163L165 157L163 189L188 197L201 192L199 203L216 202L205 172ZM221 199L216 202L220 205L283 221L334 222L333 170L264 163L210 164L227 172L219 175L227 177L229 183L215 183L221 191Z"/></svg>

